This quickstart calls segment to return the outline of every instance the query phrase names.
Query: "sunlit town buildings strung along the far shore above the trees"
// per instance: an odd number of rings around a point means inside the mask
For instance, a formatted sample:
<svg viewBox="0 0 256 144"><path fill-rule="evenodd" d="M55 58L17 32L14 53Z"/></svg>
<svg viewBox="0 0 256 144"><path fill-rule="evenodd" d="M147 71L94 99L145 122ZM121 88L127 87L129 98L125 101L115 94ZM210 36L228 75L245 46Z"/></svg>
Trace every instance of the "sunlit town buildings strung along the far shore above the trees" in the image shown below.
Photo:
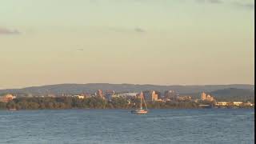
<svg viewBox="0 0 256 144"><path fill-rule="evenodd" d="M213 103L214 106L254 106L251 102L217 102L213 96L210 94L206 94L205 92L202 92L200 99L192 99L190 95L179 95L174 90L166 90L164 92L164 95L161 95L160 92L156 90L146 90L143 92L144 98L147 102L210 102ZM31 97L31 95L30 95ZM112 98L126 98L127 101L130 102L131 98L140 98L139 93L135 92L126 92L126 93L115 93L114 90L97 90L94 94L62 94L59 96L56 96L54 94L47 94L46 96L38 96L38 97L72 97L72 98L79 98L79 99L85 99L85 98L91 98L91 97L98 97L103 98L106 100L111 100ZM6 94L4 96L0 96L0 102L10 102L16 98L12 94Z"/></svg>

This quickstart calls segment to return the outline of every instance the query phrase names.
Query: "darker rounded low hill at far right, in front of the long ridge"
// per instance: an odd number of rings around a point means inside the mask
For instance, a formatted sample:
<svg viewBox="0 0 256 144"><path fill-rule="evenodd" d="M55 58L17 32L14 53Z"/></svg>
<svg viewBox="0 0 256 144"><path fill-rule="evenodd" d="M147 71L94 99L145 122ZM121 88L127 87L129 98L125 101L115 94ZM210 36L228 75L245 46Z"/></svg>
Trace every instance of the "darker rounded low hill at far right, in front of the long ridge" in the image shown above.
<svg viewBox="0 0 256 144"><path fill-rule="evenodd" d="M224 90L214 90L210 92L218 101L244 101L250 100L254 102L254 90L229 88Z"/></svg>

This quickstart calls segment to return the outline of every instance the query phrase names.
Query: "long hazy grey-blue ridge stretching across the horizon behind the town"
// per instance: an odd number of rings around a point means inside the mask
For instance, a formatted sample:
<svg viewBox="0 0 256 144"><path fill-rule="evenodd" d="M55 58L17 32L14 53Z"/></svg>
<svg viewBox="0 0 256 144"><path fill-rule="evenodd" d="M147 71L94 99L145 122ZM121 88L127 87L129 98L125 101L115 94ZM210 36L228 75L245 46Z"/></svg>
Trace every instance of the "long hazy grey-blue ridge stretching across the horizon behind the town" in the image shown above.
<svg viewBox="0 0 256 144"><path fill-rule="evenodd" d="M23 89L0 90L0 94L82 94L94 93L96 90L115 90L116 92L139 92L141 90L157 90L164 93L165 90L175 90L178 94L199 94L202 91L213 92L225 89L253 90L253 85L206 85L206 86L158 86L158 85L134 85L134 84L109 84L109 83L88 83L88 84L58 84L48 86L33 86ZM218 95L217 93L214 93Z"/></svg>

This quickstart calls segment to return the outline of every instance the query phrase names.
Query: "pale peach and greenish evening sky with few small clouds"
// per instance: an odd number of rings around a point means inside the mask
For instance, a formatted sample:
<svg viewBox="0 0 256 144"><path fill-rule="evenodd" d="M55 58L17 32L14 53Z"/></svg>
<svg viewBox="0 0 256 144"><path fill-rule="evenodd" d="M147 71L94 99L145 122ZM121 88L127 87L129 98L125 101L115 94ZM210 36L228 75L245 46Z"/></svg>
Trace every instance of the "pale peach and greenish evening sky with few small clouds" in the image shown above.
<svg viewBox="0 0 256 144"><path fill-rule="evenodd" d="M0 1L0 89L59 83L254 84L254 1Z"/></svg>

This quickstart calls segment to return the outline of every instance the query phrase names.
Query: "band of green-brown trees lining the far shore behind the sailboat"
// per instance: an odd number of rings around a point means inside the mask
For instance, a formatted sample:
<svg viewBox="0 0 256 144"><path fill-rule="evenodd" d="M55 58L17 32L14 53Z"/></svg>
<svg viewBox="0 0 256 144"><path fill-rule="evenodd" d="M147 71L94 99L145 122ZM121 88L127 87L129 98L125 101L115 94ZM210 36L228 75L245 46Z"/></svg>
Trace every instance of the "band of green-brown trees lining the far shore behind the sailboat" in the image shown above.
<svg viewBox="0 0 256 144"><path fill-rule="evenodd" d="M46 109L136 109L140 106L139 98L15 98L10 102L0 102L0 109L46 110ZM196 102L147 102L148 108L199 108Z"/></svg>

